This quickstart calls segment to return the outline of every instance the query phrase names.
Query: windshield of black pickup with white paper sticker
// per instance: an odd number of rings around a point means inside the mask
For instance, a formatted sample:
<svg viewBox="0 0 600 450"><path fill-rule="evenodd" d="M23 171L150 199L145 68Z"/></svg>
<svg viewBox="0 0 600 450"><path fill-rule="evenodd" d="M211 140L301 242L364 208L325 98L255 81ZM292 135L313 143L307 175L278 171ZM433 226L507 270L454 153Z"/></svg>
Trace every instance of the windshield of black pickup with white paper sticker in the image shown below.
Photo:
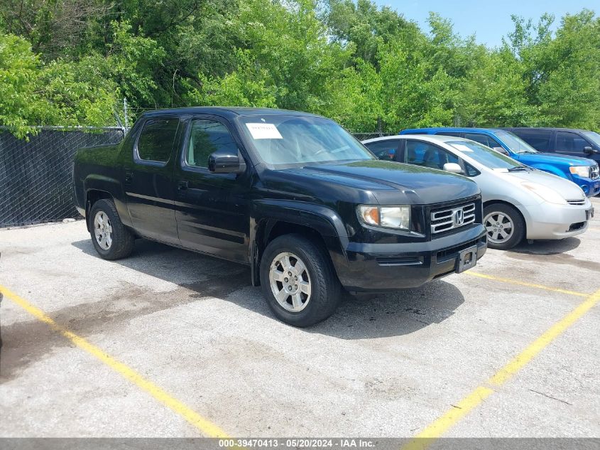
<svg viewBox="0 0 600 450"><path fill-rule="evenodd" d="M322 117L242 117L242 128L266 164L320 163L375 159L337 123Z"/></svg>

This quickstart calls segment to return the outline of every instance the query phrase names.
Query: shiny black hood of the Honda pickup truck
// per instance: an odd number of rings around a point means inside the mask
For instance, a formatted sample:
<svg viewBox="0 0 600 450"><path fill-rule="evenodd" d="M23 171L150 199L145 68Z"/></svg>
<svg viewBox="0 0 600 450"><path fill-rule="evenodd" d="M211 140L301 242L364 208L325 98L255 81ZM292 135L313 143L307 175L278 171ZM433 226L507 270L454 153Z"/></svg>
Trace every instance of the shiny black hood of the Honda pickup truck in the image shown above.
<svg viewBox="0 0 600 450"><path fill-rule="evenodd" d="M288 181L291 181L290 177L295 178L295 182L304 178L315 188L322 183L354 188L387 205L440 203L479 193L477 184L464 176L391 161L320 164L276 172L285 174ZM291 188L292 184L288 183L288 186Z"/></svg>

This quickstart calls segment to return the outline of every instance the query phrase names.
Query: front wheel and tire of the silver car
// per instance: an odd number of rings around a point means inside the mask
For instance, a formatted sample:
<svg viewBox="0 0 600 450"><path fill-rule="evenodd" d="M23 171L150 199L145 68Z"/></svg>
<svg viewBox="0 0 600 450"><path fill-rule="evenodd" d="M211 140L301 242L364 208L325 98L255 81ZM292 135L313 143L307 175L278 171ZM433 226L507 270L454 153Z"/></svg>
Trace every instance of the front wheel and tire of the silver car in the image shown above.
<svg viewBox="0 0 600 450"><path fill-rule="evenodd" d="M510 250L525 237L523 216L516 208L504 203L493 203L484 208L484 227L487 230L488 247L496 250Z"/></svg>

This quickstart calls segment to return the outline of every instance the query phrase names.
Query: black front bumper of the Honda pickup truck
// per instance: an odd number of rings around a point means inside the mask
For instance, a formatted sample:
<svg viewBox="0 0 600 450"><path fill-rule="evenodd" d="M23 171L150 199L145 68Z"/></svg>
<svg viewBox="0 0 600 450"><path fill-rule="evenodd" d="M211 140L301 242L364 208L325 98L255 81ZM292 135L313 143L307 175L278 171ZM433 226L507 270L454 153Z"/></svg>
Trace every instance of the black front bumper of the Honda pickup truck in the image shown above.
<svg viewBox="0 0 600 450"><path fill-rule="evenodd" d="M429 242L350 242L346 258L334 259L334 266L339 281L349 291L396 291L418 287L456 272L459 252L474 245L479 260L487 250L483 225Z"/></svg>

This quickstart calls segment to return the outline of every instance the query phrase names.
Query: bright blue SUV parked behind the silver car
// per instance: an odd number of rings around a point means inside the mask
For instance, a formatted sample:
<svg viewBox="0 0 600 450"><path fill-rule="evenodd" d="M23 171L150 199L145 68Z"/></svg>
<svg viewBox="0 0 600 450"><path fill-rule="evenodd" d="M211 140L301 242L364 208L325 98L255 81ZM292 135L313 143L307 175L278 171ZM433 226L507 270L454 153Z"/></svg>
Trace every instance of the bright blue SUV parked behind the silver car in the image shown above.
<svg viewBox="0 0 600 450"><path fill-rule="evenodd" d="M554 173L572 181L588 197L600 193L600 173L596 161L577 156L540 153L523 139L503 129L493 128L413 128L400 134L443 134L471 139L511 156L525 166Z"/></svg>

